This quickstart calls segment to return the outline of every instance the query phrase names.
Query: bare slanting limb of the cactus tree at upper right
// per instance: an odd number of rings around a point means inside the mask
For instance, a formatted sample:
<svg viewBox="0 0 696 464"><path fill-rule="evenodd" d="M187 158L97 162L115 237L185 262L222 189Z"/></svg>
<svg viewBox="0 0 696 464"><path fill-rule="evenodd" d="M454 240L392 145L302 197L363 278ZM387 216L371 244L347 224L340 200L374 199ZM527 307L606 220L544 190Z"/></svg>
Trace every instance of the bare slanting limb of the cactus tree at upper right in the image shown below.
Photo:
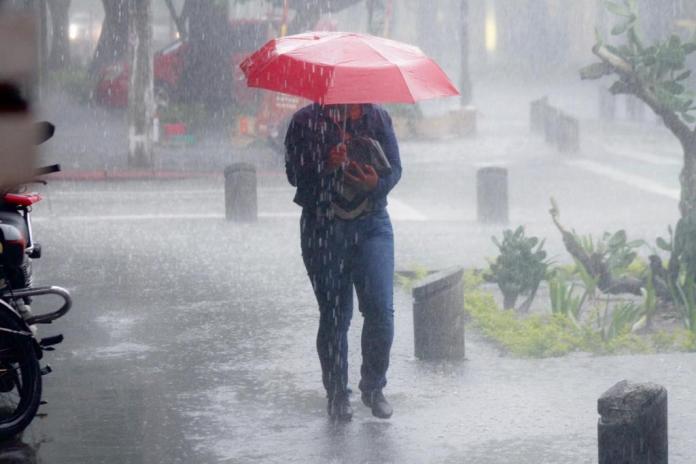
<svg viewBox="0 0 696 464"><path fill-rule="evenodd" d="M657 115L662 117L665 125L676 135L682 143L682 146L686 147L692 143L694 132L689 129L689 126L684 123L674 111L667 108L659 101L655 93L640 80L630 63L612 53L603 45L595 45L592 48L592 53L602 60L602 62L611 66L614 72L619 75L626 85L625 93L630 93L640 98Z"/></svg>

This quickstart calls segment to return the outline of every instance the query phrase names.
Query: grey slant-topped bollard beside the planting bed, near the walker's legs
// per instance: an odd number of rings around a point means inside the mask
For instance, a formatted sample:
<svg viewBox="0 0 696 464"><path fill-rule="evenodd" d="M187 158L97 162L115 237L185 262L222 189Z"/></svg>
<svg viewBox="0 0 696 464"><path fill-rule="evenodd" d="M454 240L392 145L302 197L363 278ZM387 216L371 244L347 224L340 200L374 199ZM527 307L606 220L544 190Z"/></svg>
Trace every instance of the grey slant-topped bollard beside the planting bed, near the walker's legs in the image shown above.
<svg viewBox="0 0 696 464"><path fill-rule="evenodd" d="M464 358L464 269L433 273L413 288L414 349L418 359Z"/></svg>

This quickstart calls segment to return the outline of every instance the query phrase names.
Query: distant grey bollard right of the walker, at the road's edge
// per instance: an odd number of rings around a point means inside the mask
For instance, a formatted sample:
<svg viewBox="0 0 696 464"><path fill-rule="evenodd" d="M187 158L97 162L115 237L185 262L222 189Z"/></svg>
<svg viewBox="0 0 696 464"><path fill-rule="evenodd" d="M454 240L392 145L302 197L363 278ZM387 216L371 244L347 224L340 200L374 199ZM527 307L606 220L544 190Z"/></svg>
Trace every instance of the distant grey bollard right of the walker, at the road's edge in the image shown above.
<svg viewBox="0 0 696 464"><path fill-rule="evenodd" d="M476 203L479 222L507 224L507 169L490 166L478 170L476 173Z"/></svg>

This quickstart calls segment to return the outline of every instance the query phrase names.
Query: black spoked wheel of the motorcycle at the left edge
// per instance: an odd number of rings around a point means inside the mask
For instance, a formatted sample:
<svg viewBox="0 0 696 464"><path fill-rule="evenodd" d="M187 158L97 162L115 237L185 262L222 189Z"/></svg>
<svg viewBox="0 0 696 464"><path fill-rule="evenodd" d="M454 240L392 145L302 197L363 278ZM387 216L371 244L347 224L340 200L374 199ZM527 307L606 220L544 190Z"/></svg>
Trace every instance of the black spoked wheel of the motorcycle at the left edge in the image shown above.
<svg viewBox="0 0 696 464"><path fill-rule="evenodd" d="M0 304L0 327L20 332L27 327ZM41 367L34 339L0 333L0 440L19 435L41 402Z"/></svg>

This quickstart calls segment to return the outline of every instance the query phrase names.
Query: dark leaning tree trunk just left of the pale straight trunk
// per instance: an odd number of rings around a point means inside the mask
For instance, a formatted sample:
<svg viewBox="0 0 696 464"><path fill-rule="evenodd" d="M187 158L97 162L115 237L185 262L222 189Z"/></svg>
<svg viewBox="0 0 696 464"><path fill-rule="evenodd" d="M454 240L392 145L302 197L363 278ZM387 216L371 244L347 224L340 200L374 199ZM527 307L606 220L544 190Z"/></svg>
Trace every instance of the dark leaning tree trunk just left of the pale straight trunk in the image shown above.
<svg viewBox="0 0 696 464"><path fill-rule="evenodd" d="M102 31L89 67L92 77L104 66L123 59L128 51L128 0L102 0L102 4Z"/></svg>

